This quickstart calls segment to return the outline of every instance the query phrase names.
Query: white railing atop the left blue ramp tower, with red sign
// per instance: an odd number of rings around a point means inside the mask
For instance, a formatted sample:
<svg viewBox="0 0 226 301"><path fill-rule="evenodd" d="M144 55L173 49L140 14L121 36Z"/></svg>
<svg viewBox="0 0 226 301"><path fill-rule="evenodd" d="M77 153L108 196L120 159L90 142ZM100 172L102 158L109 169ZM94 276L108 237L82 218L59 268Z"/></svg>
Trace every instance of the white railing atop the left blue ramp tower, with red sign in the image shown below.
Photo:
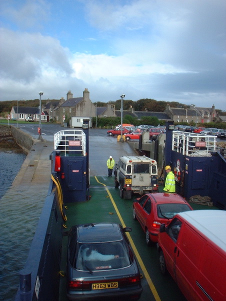
<svg viewBox="0 0 226 301"><path fill-rule="evenodd" d="M82 129L64 129L54 134L54 150L60 155L85 156L85 133Z"/></svg>

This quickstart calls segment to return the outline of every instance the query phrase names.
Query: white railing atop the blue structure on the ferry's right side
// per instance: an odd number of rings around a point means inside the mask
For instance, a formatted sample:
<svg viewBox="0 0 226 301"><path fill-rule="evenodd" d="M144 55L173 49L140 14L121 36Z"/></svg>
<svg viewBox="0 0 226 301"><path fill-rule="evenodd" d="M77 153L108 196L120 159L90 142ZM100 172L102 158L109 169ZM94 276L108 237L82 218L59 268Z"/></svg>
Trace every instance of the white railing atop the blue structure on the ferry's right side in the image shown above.
<svg viewBox="0 0 226 301"><path fill-rule="evenodd" d="M173 131L172 150L188 156L211 156L216 152L216 136Z"/></svg>

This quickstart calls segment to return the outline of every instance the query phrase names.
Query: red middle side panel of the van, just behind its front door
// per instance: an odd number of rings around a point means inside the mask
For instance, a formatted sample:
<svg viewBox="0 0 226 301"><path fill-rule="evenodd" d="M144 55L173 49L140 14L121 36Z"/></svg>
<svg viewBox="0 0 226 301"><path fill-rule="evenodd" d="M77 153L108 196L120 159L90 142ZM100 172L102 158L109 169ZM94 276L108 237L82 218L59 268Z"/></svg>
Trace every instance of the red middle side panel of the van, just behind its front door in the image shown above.
<svg viewBox="0 0 226 301"><path fill-rule="evenodd" d="M196 286L204 245L205 240L188 224L183 223L177 240L175 274L176 282L188 300L195 300L195 291L190 288Z"/></svg>

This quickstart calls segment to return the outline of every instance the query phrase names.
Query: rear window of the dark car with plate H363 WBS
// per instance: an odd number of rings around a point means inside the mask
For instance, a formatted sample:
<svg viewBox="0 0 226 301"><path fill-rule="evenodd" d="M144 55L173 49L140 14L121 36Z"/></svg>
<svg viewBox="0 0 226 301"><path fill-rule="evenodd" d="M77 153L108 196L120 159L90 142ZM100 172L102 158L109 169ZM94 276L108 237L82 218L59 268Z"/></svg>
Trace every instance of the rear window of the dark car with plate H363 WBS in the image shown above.
<svg viewBox="0 0 226 301"><path fill-rule="evenodd" d="M132 263L125 241L78 243L73 266L79 270L102 270L128 266Z"/></svg>

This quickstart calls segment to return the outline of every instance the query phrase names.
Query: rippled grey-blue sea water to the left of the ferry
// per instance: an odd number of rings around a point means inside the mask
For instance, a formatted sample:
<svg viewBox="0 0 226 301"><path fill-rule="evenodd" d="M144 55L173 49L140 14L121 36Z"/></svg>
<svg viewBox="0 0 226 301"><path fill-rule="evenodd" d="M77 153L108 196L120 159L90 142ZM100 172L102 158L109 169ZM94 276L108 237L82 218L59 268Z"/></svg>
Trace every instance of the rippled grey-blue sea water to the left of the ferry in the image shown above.
<svg viewBox="0 0 226 301"><path fill-rule="evenodd" d="M10 198L6 194L25 158L26 154L22 152L0 151L0 300L4 301L14 299L18 287L18 270L22 267L21 257L24 256L25 261L29 247L29 243L26 243L25 248L21 244L26 239L26 233L19 225L24 222L32 224L33 217L28 217L26 212L35 210L35 205L21 199L17 192L12 193Z"/></svg>

